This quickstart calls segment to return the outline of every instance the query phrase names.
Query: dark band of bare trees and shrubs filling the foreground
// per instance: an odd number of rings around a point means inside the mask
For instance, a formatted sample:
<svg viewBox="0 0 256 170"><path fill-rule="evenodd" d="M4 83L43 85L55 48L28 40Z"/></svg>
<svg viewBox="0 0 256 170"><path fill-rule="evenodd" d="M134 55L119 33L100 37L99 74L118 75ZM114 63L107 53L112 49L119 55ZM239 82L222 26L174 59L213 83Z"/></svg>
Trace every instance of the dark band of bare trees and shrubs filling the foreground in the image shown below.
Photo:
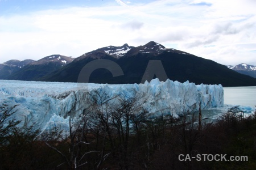
<svg viewBox="0 0 256 170"><path fill-rule="evenodd" d="M244 117L233 107L214 123L201 120L200 113L149 119L144 96L135 90L114 97L89 92L82 114L69 117L68 133L17 126L20 121L11 118L16 106L2 104L0 169L256 169L256 112ZM248 161L180 161L180 154Z"/></svg>

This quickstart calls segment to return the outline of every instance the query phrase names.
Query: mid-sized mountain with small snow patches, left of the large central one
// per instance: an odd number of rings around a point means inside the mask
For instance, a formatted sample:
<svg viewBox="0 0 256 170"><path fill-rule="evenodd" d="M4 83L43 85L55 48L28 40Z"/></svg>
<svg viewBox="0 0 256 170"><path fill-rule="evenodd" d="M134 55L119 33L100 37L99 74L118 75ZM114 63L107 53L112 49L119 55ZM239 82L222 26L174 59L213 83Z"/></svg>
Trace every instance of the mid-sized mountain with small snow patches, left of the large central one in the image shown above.
<svg viewBox="0 0 256 170"><path fill-rule="evenodd" d="M51 55L29 63L18 71L13 72L8 79L13 80L38 80L44 75L50 74L55 70L71 63L75 58L61 56L59 54Z"/></svg>

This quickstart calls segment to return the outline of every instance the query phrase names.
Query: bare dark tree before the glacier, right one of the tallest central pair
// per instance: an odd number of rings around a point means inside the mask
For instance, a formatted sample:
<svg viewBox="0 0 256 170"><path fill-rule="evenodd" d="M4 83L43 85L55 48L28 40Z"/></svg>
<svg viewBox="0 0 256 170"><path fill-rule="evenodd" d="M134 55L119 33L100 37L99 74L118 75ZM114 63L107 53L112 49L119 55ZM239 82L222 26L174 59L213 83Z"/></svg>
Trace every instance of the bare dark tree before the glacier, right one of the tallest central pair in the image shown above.
<svg viewBox="0 0 256 170"><path fill-rule="evenodd" d="M111 114L111 124L117 133L117 161L120 168L129 169L132 165L133 145L129 145L131 130L139 134L139 126L145 120L147 109L143 107L146 103L146 92L139 93L131 90L132 95L121 94L119 102L114 106ZM132 126L131 126L132 125ZM135 129L131 129L135 128ZM139 134L140 135L140 134Z"/></svg>

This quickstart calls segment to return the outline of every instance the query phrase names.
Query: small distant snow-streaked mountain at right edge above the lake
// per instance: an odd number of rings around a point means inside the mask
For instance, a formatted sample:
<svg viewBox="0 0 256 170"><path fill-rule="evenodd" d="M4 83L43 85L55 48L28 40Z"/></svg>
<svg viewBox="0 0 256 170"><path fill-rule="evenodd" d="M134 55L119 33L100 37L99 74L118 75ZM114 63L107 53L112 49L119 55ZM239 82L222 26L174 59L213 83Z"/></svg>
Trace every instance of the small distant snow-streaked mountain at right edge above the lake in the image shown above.
<svg viewBox="0 0 256 170"><path fill-rule="evenodd" d="M229 69L235 70L238 73L245 74L256 78L256 66L247 65L246 63L241 63L236 66L227 66Z"/></svg>

